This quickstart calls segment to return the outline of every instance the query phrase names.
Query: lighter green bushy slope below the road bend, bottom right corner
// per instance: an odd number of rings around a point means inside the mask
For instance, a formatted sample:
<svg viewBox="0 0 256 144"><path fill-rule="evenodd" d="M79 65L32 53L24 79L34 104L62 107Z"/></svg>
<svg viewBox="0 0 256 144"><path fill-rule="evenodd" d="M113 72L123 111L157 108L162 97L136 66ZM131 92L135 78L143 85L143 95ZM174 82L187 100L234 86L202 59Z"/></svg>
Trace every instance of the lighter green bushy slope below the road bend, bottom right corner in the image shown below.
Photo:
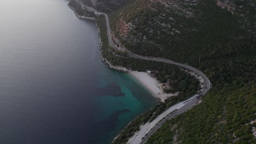
<svg viewBox="0 0 256 144"><path fill-rule="evenodd" d="M162 125L147 143L158 143L159 137L169 133L177 134L176 142L181 143L256 143L252 133L255 123L249 124L256 119L255 95L251 86L214 88L200 105ZM176 129L171 128L174 124ZM164 143L172 141L173 137Z"/></svg>

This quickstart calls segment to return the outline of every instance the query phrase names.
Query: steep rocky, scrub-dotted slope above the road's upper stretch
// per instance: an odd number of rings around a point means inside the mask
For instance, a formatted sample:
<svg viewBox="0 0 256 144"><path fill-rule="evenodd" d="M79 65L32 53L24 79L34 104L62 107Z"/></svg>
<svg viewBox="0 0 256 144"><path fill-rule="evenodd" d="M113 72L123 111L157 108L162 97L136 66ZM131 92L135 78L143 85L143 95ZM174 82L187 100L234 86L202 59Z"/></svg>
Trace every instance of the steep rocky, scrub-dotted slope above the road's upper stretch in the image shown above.
<svg viewBox="0 0 256 144"><path fill-rule="evenodd" d="M250 51L255 40L255 2L218 7L220 1L141 0L115 19L115 37L134 53L180 62ZM218 4L218 5L217 5ZM224 4L223 4L224 5ZM242 7L242 8L240 8ZM246 7L246 8L245 8ZM247 46L241 44L248 43ZM118 41L117 41L117 44Z"/></svg>

